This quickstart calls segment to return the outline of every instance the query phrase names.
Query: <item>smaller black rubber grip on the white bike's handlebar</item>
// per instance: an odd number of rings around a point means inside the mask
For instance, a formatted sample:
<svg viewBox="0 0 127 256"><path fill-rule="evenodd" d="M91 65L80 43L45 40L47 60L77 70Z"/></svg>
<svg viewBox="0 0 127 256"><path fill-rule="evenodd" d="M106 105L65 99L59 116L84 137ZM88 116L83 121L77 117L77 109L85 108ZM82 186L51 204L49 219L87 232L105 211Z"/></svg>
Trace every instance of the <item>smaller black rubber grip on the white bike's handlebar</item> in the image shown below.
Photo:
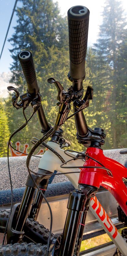
<svg viewBox="0 0 127 256"><path fill-rule="evenodd" d="M27 83L28 93L39 93L39 86L37 84L36 71L33 64L32 53L29 51L22 51L18 54L23 74Z"/></svg>

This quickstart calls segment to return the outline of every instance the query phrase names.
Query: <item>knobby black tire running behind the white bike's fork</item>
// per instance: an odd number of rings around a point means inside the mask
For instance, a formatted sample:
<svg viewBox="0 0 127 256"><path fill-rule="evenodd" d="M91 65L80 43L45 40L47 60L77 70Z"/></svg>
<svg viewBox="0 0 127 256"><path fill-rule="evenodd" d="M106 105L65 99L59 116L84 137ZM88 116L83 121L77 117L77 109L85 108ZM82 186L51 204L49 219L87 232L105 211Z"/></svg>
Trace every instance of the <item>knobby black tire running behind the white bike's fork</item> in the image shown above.
<svg viewBox="0 0 127 256"><path fill-rule="evenodd" d="M5 232L5 227L9 215L9 211L1 210L0 211L0 233ZM24 242L34 242L34 243L42 243L47 244L49 237L49 230L44 227L44 225L39 224L37 221L33 221L33 219L27 218L24 226ZM53 233L51 234L51 238Z"/></svg>

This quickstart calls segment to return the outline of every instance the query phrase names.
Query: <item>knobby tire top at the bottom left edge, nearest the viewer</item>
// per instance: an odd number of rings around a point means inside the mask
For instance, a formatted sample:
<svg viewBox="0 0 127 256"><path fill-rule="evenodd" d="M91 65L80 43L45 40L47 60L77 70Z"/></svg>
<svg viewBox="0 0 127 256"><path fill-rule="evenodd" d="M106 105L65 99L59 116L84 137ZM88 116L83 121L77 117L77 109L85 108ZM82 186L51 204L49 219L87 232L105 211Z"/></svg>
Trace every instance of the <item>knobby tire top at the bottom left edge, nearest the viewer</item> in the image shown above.
<svg viewBox="0 0 127 256"><path fill-rule="evenodd" d="M13 245L0 246L0 256L44 256L46 245L34 243L16 243Z"/></svg>

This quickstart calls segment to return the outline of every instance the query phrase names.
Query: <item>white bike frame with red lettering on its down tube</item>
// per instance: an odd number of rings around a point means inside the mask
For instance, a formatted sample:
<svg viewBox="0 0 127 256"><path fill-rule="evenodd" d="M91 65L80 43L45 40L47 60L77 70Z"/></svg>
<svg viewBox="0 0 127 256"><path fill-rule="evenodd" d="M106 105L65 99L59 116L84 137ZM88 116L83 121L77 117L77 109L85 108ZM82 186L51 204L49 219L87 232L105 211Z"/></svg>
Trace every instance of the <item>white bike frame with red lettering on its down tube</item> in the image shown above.
<svg viewBox="0 0 127 256"><path fill-rule="evenodd" d="M60 148L59 144L55 142L48 142L47 143L50 147L52 147L55 151L57 151L65 161L72 159L68 155L65 155L64 150ZM70 153L69 155L74 156L75 153ZM77 155L77 154L76 154ZM67 163L69 166L70 163ZM83 166L84 160L83 159L76 159L71 161L71 166ZM61 168L61 160L50 150L46 150L42 158L40 159L39 168L44 169L47 171L51 171L52 173L54 170L59 171L61 173L65 172L74 172L80 171L78 168ZM79 181L79 173L72 174L65 174L67 178L71 181L75 188L78 188L78 181ZM120 233L118 232L117 228L111 221L110 217L103 209L102 205L98 201L97 197L91 198L90 202L90 210L98 220L98 222L102 225L105 232L109 235L113 243L116 245L118 250L124 256L127 256L127 243L125 239L121 237Z"/></svg>

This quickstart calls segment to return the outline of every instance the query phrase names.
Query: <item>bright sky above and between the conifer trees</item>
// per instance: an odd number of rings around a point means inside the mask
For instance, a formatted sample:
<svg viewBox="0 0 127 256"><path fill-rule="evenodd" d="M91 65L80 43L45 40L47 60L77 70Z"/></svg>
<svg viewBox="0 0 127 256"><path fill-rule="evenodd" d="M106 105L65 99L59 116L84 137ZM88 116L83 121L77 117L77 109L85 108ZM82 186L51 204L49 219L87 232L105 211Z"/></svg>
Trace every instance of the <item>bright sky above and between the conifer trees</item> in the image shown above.
<svg viewBox="0 0 127 256"><path fill-rule="evenodd" d="M47 0L48 1L48 0ZM55 0L53 0L56 2ZM62 15L67 15L67 10L71 6L75 5L83 5L86 6L90 10L90 21L89 21L89 33L88 33L88 45L92 45L96 42L99 25L102 23L102 11L105 0L58 0L57 1L60 7L60 11ZM123 8L125 9L125 13L127 14L127 3L126 0L122 0ZM6 31L9 25L10 17L12 14L13 6L15 0L0 0L0 53L2 50L3 42L5 39ZM20 6L21 2L17 2L17 6ZM13 27L16 26L16 14L13 15L13 19L11 22L10 30L7 38L10 38L14 32ZM11 48L10 43L6 40L5 47L2 53L2 57L0 60L0 73L8 72L10 64L12 63L12 58L10 56L9 49Z"/></svg>

